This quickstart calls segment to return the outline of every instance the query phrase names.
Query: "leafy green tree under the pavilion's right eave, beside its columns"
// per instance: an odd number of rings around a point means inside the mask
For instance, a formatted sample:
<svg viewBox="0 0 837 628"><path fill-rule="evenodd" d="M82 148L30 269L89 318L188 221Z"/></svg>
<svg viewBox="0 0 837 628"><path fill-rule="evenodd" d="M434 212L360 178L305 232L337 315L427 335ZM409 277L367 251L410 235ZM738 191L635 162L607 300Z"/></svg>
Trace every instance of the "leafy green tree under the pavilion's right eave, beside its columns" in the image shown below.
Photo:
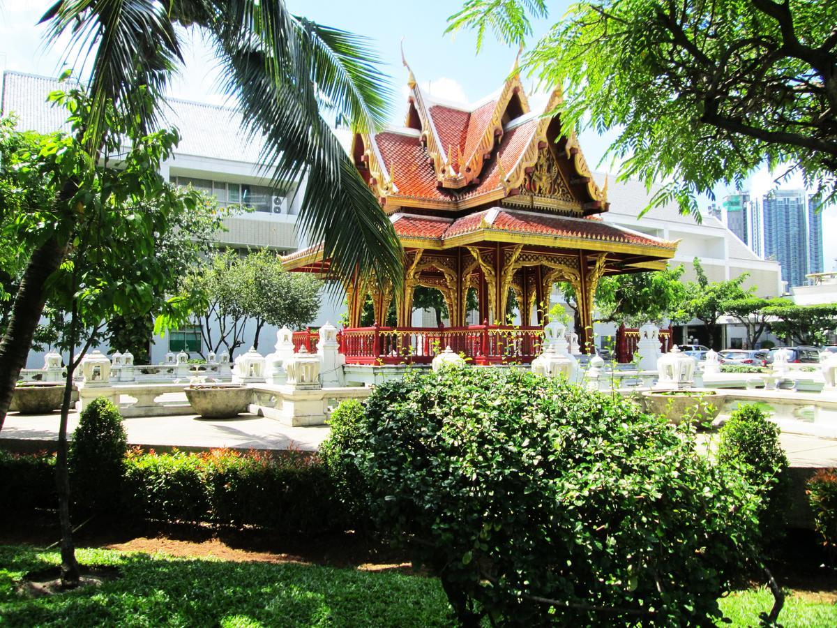
<svg viewBox="0 0 837 628"><path fill-rule="evenodd" d="M601 320L639 327L645 322L677 322L686 300L686 286L680 281L683 265L653 272L602 277L596 288L595 304Z"/></svg>

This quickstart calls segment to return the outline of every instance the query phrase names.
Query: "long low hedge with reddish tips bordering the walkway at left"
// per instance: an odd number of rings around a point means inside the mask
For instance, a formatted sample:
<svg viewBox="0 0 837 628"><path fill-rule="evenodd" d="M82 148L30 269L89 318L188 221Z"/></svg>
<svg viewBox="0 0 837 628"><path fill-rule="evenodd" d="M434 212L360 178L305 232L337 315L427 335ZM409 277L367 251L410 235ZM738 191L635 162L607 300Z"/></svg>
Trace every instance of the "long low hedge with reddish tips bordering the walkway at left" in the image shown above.
<svg viewBox="0 0 837 628"><path fill-rule="evenodd" d="M116 516L254 525L288 533L351 527L326 467L304 452L131 450L124 469L121 497L111 505L110 514ZM0 452L0 477L0 496L16 505L15 512L56 506L54 456Z"/></svg>

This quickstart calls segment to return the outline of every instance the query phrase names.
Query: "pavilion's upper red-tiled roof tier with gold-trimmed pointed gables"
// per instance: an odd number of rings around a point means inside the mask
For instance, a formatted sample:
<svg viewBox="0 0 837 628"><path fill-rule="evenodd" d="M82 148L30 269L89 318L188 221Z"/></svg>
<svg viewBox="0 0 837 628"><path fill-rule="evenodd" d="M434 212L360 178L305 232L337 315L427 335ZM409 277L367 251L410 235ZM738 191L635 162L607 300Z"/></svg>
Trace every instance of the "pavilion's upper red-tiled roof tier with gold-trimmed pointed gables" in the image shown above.
<svg viewBox="0 0 837 628"><path fill-rule="evenodd" d="M357 134L352 142L357 167L388 212L404 206L456 211L518 193L524 197L510 204L535 194L535 205L562 213L607 211L607 179L599 188L575 133L563 135L552 125L557 114L548 115L560 110L560 89L542 111L531 111L515 64L496 97L471 106L443 104L424 93L406 59L403 64L410 89L405 126ZM551 142L560 146L543 157ZM551 192L531 192L528 175L540 159L552 164Z"/></svg>

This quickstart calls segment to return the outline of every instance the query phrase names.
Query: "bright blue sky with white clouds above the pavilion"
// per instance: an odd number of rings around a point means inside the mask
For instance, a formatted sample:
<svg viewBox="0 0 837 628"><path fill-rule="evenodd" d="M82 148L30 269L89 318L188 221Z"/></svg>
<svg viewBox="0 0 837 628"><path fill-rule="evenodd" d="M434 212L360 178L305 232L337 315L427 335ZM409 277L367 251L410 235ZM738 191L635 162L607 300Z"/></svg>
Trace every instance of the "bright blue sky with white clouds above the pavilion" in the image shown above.
<svg viewBox="0 0 837 628"><path fill-rule="evenodd" d="M349 3L343 0L327 2L287 0L291 11L320 23L367 35L374 40L381 58L386 62L383 71L393 85L393 123L401 124L406 98L406 70L401 64L399 44L404 39L404 52L417 80L431 93L448 100L473 102L496 90L511 68L516 49L497 44L488 34L480 54L476 53L475 36L462 31L455 36L444 35L446 20L460 8L457 0L421 0L403 2L367 0ZM60 48L44 49L41 41L43 28L36 23L52 0L7 0L0 2L0 68L15 69L40 75L55 75L59 71ZM544 33L566 10L567 0L550 3L551 18L535 24L535 34ZM531 80L525 80L527 88ZM187 55L187 66L172 83L172 95L187 100L202 100L222 104L218 93L218 73L214 69L211 50L198 36ZM580 141L588 161L598 163L607 146L608 137L593 131L583 132ZM603 163L599 170L612 168ZM748 186L760 196L773 188L769 172L755 172ZM802 187L797 178L787 185ZM727 193L716 190L719 196ZM618 199L612 199L618 202ZM706 204L701 199L701 205ZM837 208L823 214L823 233L837 230ZM824 270L831 270L837 256L837 239L825 238Z"/></svg>

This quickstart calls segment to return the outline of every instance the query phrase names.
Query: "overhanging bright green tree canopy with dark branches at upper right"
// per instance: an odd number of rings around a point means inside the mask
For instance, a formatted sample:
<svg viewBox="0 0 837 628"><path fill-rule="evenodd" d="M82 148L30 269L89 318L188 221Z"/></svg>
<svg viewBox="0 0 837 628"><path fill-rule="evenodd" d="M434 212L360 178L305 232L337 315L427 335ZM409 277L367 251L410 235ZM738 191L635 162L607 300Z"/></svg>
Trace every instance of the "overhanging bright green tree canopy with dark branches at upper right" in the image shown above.
<svg viewBox="0 0 837 628"><path fill-rule="evenodd" d="M449 30L474 28L480 42L488 28L516 47L546 11L543 0L467 0ZM830 0L582 0L521 67L563 88L565 131L614 131L605 158L621 162L619 178L665 182L651 206L675 200L699 217L697 197L765 161L837 191L834 23Z"/></svg>

